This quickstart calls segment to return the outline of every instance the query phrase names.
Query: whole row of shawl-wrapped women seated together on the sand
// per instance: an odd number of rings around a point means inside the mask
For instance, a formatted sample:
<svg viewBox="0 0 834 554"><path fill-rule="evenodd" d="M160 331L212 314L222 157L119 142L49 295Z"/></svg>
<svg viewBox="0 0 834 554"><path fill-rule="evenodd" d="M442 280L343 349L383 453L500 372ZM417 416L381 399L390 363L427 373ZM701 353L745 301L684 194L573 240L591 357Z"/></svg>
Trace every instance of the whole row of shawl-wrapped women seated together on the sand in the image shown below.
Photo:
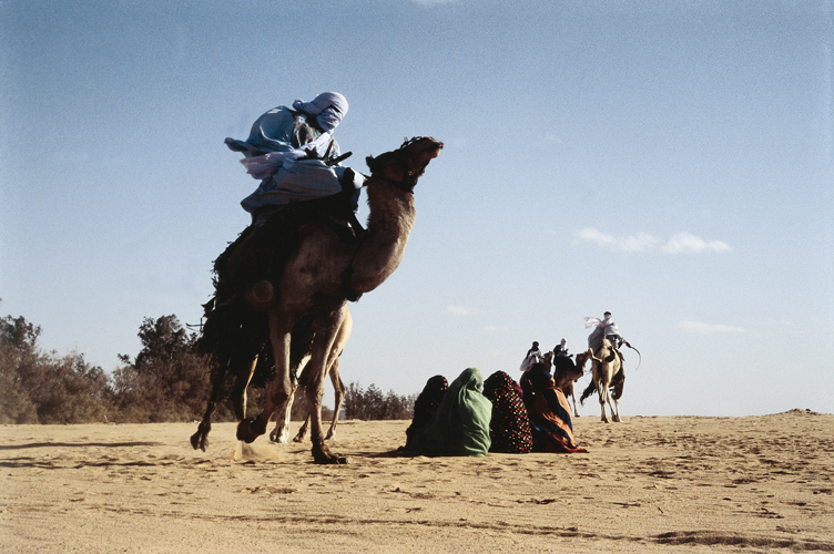
<svg viewBox="0 0 834 554"><path fill-rule="evenodd" d="M526 371L520 384L505 371L485 381L476 368L464 370L451 384L433 377L414 404L404 451L470 456L587 452L573 439L570 408L545 363Z"/></svg>

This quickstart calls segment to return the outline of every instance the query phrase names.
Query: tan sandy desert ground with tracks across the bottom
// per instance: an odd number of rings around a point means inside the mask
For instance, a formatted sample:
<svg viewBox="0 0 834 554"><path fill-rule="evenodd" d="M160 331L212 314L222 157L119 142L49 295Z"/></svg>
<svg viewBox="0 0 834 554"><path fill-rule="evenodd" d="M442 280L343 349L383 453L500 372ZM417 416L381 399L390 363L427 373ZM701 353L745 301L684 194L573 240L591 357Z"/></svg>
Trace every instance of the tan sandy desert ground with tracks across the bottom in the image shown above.
<svg viewBox="0 0 834 554"><path fill-rule="evenodd" d="M834 551L831 414L586 416L587 454L479 459L391 455L407 425L342 422L342 466L232 423L205 453L192 423L3 425L0 552Z"/></svg>

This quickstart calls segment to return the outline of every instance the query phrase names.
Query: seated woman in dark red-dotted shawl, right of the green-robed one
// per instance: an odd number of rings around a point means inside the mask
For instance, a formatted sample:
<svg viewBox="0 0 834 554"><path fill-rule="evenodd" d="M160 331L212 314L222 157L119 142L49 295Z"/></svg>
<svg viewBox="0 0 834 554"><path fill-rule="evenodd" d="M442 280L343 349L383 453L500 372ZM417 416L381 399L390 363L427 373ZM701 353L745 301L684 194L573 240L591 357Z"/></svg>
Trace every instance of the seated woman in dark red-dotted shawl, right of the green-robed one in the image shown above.
<svg viewBox="0 0 834 554"><path fill-rule="evenodd" d="M530 419L521 398L521 388L504 371L484 381L484 396L492 402L489 423L490 452L526 454L532 451Z"/></svg>

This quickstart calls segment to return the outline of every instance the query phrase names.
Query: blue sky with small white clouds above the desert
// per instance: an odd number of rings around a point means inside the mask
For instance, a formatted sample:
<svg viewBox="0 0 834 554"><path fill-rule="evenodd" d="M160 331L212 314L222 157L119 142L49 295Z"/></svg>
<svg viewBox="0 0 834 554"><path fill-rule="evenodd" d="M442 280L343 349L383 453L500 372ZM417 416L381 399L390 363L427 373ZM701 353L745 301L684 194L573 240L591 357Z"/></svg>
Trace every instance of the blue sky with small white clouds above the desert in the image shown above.
<svg viewBox="0 0 834 554"><path fill-rule="evenodd" d="M446 144L346 382L518 377L610 310L626 417L834 412L831 0L2 1L0 53L0 314L48 350L199 324L257 184L223 140L338 91L359 171Z"/></svg>

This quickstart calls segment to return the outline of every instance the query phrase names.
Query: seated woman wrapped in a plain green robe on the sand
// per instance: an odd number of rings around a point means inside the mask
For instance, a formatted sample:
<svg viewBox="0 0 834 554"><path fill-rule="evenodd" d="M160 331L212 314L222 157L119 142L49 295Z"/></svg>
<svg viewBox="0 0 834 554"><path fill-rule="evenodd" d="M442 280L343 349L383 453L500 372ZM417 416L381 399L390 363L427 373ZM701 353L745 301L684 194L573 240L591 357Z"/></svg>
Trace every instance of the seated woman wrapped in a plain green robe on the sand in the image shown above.
<svg viewBox="0 0 834 554"><path fill-rule="evenodd" d="M414 433L415 455L486 455L492 404L481 394L484 376L469 368L451 381L429 422Z"/></svg>

